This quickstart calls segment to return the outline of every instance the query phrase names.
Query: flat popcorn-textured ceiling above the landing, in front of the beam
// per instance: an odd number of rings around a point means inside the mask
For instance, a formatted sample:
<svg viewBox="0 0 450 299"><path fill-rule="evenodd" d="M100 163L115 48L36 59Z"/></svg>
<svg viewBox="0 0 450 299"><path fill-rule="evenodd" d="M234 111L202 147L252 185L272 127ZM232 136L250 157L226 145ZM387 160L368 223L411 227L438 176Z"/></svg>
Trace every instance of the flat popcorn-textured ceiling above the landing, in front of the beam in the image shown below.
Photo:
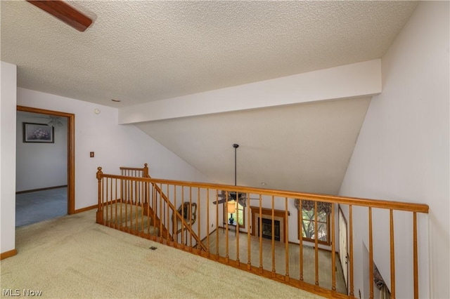
<svg viewBox="0 0 450 299"><path fill-rule="evenodd" d="M122 107L380 58L411 1L70 1L77 32L1 1L18 86ZM121 99L120 104L110 101Z"/></svg>

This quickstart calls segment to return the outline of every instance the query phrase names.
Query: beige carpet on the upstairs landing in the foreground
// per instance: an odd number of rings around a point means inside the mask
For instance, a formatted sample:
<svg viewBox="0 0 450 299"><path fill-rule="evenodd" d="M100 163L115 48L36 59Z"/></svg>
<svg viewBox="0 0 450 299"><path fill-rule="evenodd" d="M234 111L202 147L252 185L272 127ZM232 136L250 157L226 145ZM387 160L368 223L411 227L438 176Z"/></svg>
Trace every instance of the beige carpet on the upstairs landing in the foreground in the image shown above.
<svg viewBox="0 0 450 299"><path fill-rule="evenodd" d="M158 249L150 250L150 246ZM1 288L44 298L321 298L95 223L95 211L16 230Z"/></svg>

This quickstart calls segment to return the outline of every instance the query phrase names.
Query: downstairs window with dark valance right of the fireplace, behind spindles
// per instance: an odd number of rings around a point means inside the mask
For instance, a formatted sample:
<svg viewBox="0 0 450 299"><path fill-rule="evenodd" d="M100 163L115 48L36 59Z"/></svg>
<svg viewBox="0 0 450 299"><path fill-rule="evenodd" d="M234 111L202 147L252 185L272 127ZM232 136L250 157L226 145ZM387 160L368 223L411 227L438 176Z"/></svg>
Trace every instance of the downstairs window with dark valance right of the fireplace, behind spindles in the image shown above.
<svg viewBox="0 0 450 299"><path fill-rule="evenodd" d="M299 223L298 232L300 239L300 231L302 232L304 241L316 241L315 238L315 223L314 223L314 201L302 201L302 209L300 213L299 208L299 218L301 221ZM317 239L319 243L330 245L330 204L318 202L317 203Z"/></svg>

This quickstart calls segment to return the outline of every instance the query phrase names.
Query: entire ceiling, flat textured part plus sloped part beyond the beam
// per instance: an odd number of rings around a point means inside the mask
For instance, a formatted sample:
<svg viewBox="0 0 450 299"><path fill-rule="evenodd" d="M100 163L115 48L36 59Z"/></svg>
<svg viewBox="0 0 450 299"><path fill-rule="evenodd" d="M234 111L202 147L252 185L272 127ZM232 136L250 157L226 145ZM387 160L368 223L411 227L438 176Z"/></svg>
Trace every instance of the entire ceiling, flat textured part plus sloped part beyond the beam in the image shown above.
<svg viewBox="0 0 450 299"><path fill-rule="evenodd" d="M78 32L1 1L1 60L18 86L113 107L381 58L413 1L68 1ZM112 102L119 99L121 102ZM137 124L214 182L335 194L370 97ZM151 164L151 161L149 161Z"/></svg>

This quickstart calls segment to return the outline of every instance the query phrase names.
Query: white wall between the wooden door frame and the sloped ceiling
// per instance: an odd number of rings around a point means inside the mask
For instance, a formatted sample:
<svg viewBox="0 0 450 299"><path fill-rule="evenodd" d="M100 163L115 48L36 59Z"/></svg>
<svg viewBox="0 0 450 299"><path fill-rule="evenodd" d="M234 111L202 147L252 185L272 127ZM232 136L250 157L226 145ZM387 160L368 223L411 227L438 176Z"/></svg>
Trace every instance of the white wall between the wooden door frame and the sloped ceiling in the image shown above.
<svg viewBox="0 0 450 299"><path fill-rule="evenodd" d="M120 166L148 163L154 178L207 181L205 176L134 125L118 125L117 109L18 88L18 105L75 114L75 209L97 203L97 167L119 173ZM95 114L94 109L100 109ZM89 152L95 152L90 158Z"/></svg>

